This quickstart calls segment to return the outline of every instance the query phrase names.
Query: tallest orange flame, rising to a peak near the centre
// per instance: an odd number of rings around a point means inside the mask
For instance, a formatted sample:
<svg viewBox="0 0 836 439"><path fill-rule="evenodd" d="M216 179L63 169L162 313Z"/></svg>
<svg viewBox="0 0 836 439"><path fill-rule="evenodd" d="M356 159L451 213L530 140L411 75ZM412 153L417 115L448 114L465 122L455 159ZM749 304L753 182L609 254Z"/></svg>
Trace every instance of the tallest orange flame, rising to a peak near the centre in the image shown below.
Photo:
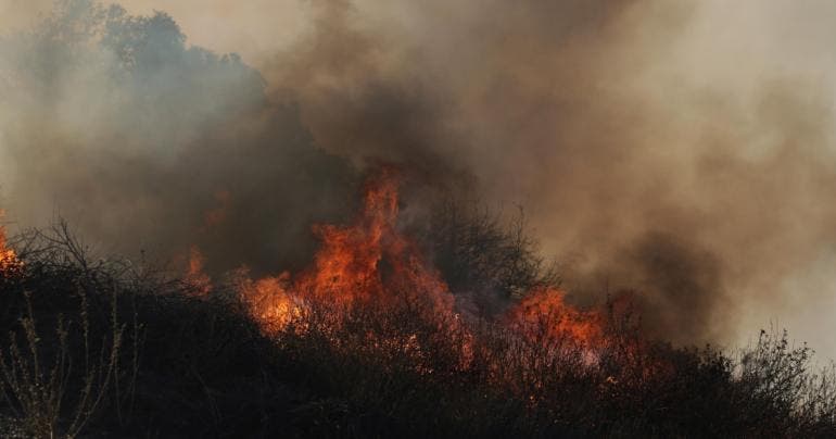
<svg viewBox="0 0 836 439"><path fill-rule="evenodd" d="M293 277L282 274L243 281L240 290L253 315L269 328L287 323L299 301L344 306L377 301L428 301L433 313L453 313L453 297L417 246L396 229L397 176L383 170L366 185L364 206L349 226L316 225L321 248L311 267Z"/></svg>

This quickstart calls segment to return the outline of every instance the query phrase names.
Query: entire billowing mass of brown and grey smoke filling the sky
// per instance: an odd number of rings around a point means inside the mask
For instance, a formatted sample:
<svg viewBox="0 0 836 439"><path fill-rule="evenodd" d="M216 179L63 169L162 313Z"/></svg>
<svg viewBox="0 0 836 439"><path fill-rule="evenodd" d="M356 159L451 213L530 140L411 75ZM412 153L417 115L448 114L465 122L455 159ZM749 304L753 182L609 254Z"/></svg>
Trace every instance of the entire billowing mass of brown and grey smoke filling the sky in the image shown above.
<svg viewBox="0 0 836 439"><path fill-rule="evenodd" d="M674 341L824 325L811 310L834 296L834 65L811 18L832 7L726 3L275 7L293 34L221 2L172 7L213 47L256 41L241 50L257 71L190 48L166 15L104 11L94 36L58 42L64 22L47 21L3 40L4 201L23 224L59 209L128 251L198 242L218 268L275 269L384 161L522 205L574 300L632 289Z"/></svg>

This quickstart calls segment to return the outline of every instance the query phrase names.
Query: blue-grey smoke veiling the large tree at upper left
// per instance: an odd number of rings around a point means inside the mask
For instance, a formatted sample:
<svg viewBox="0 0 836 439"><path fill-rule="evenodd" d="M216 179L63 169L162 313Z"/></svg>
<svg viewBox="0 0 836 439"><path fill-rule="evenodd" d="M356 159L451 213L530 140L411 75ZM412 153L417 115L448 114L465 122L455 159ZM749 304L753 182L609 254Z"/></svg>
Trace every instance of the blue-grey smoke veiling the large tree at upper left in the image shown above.
<svg viewBox="0 0 836 439"><path fill-rule="evenodd" d="M311 223L342 220L357 177L314 146L299 110L269 103L237 55L189 47L164 13L56 4L2 40L11 217L58 214L134 256L195 244L213 272L309 258Z"/></svg>

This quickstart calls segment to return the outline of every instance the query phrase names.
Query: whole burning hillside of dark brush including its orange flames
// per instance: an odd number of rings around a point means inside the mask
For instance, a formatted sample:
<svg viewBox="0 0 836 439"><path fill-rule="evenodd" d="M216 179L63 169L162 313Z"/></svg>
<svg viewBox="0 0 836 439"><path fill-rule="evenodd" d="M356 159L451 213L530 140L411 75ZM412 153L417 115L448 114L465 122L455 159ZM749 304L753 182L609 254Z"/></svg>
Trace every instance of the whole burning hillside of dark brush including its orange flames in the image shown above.
<svg viewBox="0 0 836 439"><path fill-rule="evenodd" d="M0 272L0 355L20 372L2 377L0 419L16 429L0 434L73 436L77 407L85 434L121 437L836 432L833 373L811 372L786 335L740 354L674 348L644 337L623 298L578 309L532 272L508 310L463 314L398 229L396 181L384 171L352 224L317 226L321 248L295 274L213 285L195 250L173 279L90 256L66 227L24 234ZM21 371L50 404L27 405Z"/></svg>

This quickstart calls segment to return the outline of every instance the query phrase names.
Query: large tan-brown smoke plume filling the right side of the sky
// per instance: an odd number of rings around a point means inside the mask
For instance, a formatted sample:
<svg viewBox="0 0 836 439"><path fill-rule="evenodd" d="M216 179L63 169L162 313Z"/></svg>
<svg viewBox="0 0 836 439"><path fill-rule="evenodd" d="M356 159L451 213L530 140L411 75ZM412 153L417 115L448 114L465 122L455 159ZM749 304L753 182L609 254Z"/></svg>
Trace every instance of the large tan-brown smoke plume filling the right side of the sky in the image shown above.
<svg viewBox="0 0 836 439"><path fill-rule="evenodd" d="M752 7L332 4L264 72L329 150L522 204L578 300L634 289L657 334L729 341L831 293L786 281L833 247L832 93Z"/></svg>

